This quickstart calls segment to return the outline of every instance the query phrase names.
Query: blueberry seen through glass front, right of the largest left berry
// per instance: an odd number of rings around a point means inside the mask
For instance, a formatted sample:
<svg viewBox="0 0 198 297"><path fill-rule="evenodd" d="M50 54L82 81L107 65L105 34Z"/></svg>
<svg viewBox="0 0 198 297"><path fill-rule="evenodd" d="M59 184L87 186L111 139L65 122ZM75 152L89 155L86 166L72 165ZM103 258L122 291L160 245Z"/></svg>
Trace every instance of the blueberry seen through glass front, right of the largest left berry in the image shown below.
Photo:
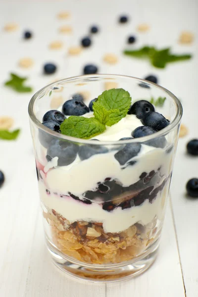
<svg viewBox="0 0 198 297"><path fill-rule="evenodd" d="M98 146L98 145L89 145L89 146L81 146L79 148L79 157L83 161L85 159L89 159L95 154L98 153L106 153L108 152L108 149L103 147L103 146Z"/></svg>

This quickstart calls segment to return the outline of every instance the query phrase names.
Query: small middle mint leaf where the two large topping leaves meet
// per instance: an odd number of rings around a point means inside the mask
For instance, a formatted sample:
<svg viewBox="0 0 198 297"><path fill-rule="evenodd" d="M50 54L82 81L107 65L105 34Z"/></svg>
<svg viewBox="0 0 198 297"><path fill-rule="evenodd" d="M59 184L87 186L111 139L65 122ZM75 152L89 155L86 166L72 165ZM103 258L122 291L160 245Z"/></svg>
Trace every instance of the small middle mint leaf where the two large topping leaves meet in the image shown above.
<svg viewBox="0 0 198 297"><path fill-rule="evenodd" d="M94 116L101 124L112 126L122 119L119 109L106 110L98 101L93 104Z"/></svg>

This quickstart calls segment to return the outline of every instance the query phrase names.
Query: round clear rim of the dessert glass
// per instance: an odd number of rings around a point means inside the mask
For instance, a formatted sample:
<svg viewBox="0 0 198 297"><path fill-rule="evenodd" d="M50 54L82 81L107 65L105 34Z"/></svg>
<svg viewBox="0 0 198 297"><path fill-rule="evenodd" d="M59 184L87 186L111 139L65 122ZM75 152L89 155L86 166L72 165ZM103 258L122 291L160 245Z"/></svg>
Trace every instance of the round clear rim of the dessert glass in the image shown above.
<svg viewBox="0 0 198 297"><path fill-rule="evenodd" d="M96 78L126 78L126 79L133 79L133 80L138 80L139 83L145 83L147 85L152 85L157 89L162 90L163 92L165 92L166 94L168 94L171 99L173 99L173 101L176 104L177 107L177 112L175 115L175 118L173 119L173 121L165 128L163 128L160 131L157 131L156 133L153 133L151 135L147 135L144 137L139 137L139 138L133 138L130 140L116 140L116 141L97 141L97 140L90 140L90 139L83 139L83 138L76 138L73 136L67 136L58 132L55 132L53 130L50 130L49 128L47 128L46 126L44 126L36 117L35 113L34 113L34 103L35 100L38 98L38 96L44 92L45 90L47 91L49 88L57 85L57 84L61 84L61 83L65 83L65 82L69 82L69 81L75 81L75 80L82 80L84 78L92 78L92 79L96 79ZM158 84L149 82L147 80L141 79L141 78L137 78L137 77L133 77L133 76L127 76L127 75L119 75L119 74L89 74L89 75L80 75L80 76L73 76L73 77L69 77L69 78L65 78L65 79L61 79L58 81L55 81L45 87L43 87L42 89L40 89L39 91L37 91L33 97L30 99L29 105L28 105L28 113L29 113L29 117L30 119L33 121L33 123L41 130L43 130L44 132L50 134L53 137L58 138L59 140L67 140L70 142L75 142L75 143L80 143L80 144L89 144L89 145L118 145L118 144L130 144L130 143L144 143L145 141L148 140L152 140L155 138L158 138L160 136L165 136L166 134L168 134L172 129L175 128L175 126L177 126L179 124L179 122L181 121L182 118L182 114L183 114L183 108L182 108L182 104L180 102L180 100L170 91L168 91L167 89L159 86ZM97 136L96 136L97 137Z"/></svg>

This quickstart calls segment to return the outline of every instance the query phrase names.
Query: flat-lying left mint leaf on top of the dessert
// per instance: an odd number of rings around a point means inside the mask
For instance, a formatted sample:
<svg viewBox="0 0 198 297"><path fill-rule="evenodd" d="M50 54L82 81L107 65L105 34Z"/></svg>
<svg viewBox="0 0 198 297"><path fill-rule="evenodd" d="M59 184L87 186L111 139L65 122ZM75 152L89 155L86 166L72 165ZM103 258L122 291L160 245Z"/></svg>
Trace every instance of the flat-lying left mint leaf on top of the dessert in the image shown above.
<svg viewBox="0 0 198 297"><path fill-rule="evenodd" d="M64 135L88 139L102 133L106 129L94 117L73 116L65 119L60 125L60 131Z"/></svg>

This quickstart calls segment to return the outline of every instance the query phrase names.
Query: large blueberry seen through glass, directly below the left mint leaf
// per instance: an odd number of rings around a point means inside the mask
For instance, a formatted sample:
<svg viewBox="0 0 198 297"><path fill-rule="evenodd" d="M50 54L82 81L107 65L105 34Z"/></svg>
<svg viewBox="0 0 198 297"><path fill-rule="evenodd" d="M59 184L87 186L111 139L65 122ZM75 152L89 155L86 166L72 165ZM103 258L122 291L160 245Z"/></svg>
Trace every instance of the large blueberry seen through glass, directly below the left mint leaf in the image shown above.
<svg viewBox="0 0 198 297"><path fill-rule="evenodd" d="M78 146L68 141L54 139L47 150L48 158L58 157L58 166L71 164L78 152Z"/></svg>

